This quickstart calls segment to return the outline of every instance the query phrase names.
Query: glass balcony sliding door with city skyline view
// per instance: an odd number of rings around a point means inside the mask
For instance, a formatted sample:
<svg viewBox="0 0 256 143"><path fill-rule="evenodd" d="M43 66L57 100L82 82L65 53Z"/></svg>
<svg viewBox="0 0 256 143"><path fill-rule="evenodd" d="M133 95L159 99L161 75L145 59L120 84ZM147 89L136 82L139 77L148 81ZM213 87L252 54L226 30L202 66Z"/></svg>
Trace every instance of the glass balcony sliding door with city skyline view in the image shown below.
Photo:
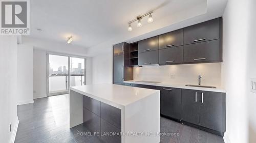
<svg viewBox="0 0 256 143"><path fill-rule="evenodd" d="M86 84L85 59L47 54L48 96L67 94L70 86Z"/></svg>

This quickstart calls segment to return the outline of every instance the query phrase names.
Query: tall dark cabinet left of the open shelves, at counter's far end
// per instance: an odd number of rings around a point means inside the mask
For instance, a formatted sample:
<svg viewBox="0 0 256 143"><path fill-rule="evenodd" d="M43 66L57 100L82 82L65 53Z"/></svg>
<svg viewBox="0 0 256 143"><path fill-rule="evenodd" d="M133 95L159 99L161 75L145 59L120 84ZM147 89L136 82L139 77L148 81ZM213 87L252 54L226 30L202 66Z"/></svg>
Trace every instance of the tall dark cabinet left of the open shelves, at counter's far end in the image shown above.
<svg viewBox="0 0 256 143"><path fill-rule="evenodd" d="M113 46L113 83L123 85L124 80L133 80L133 67L129 65L128 43Z"/></svg>

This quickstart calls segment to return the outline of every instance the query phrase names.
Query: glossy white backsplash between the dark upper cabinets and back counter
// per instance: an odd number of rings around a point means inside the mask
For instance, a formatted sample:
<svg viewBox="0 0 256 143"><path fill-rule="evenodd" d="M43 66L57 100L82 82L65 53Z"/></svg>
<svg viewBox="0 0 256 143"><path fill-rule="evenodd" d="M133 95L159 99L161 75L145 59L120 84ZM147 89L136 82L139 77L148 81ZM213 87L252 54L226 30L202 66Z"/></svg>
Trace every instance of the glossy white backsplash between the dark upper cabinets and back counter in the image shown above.
<svg viewBox="0 0 256 143"><path fill-rule="evenodd" d="M221 63L143 66L134 67L134 80L150 80L181 84L198 84L201 75L202 85L221 84Z"/></svg>

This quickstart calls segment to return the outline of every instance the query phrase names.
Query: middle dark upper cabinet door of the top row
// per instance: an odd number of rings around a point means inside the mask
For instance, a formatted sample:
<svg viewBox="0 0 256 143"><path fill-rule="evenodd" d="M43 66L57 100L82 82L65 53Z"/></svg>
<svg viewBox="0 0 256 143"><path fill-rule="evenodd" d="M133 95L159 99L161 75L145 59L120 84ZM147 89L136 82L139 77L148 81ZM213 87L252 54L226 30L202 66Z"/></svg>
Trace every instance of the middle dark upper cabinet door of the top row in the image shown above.
<svg viewBox="0 0 256 143"><path fill-rule="evenodd" d="M183 29L159 36L159 49L183 45Z"/></svg>

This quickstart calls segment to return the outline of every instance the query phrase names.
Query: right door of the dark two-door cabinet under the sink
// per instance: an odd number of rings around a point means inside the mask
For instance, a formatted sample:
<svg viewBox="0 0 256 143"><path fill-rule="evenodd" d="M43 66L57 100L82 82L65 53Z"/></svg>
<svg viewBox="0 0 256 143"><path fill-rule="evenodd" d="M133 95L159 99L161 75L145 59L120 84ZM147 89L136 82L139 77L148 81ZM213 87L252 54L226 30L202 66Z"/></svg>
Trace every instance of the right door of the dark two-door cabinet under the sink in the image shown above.
<svg viewBox="0 0 256 143"><path fill-rule="evenodd" d="M200 126L225 131L225 93L201 92Z"/></svg>

